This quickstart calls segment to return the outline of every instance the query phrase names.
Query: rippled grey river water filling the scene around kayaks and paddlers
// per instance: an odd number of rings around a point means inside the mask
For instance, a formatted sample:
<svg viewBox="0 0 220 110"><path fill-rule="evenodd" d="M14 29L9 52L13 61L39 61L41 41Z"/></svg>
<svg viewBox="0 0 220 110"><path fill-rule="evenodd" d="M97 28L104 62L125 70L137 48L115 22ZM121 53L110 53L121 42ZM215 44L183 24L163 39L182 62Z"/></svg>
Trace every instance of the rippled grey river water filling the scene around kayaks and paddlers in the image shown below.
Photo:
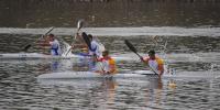
<svg viewBox="0 0 220 110"><path fill-rule="evenodd" d="M98 36L119 73L147 69L133 54L154 48L174 74L191 78L37 80L50 73L88 70L73 59L0 59L2 110L218 110L220 108L218 0L1 0L0 53L20 53L47 28L72 43L76 23ZM29 53L48 53L33 45ZM202 75L206 73L207 76ZM195 76L201 76L197 78Z"/></svg>

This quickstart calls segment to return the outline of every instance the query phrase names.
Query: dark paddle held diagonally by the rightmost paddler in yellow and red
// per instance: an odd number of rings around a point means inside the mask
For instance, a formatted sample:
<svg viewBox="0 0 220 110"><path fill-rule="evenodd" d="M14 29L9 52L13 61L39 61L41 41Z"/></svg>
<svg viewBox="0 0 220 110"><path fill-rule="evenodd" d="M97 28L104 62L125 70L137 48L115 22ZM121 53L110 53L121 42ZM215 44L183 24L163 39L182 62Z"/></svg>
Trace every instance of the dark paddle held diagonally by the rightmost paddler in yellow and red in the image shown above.
<svg viewBox="0 0 220 110"><path fill-rule="evenodd" d="M138 53L136 48L135 48L128 40L124 40L124 43L127 44L127 46L128 46L133 53L135 53L135 54L140 57L140 59L141 59L143 63L145 63L145 62L143 61L142 56ZM147 66L148 66L148 65L147 65ZM156 73L151 66L148 66L148 67L151 68L152 72L154 72L154 74L157 75L157 73Z"/></svg>

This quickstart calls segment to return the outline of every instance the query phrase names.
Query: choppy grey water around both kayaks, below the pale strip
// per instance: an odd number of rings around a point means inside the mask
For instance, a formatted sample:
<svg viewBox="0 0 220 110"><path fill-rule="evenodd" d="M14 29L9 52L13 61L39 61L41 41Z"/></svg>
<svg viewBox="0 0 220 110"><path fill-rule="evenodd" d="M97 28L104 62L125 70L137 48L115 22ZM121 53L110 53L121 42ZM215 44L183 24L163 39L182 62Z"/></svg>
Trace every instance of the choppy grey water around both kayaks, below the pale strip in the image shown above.
<svg viewBox="0 0 220 110"><path fill-rule="evenodd" d="M19 53L25 42L38 35L1 34L1 53ZM11 40L8 40L11 37ZM30 38L33 37L33 38ZM62 38L62 37L59 37ZM118 61L119 73L146 69L127 48L131 41L141 55L155 48L169 68L187 75L205 72L219 75L219 37L210 36L100 36L99 40L113 56L131 57ZM16 40L16 41L13 41ZM63 40L70 43L68 35ZM6 46L6 43L10 44ZM33 46L30 52L43 53ZM79 59L1 59L1 109L218 109L219 78L191 79L116 79L116 80L44 80L42 74L87 70ZM173 86L175 82L176 86Z"/></svg>

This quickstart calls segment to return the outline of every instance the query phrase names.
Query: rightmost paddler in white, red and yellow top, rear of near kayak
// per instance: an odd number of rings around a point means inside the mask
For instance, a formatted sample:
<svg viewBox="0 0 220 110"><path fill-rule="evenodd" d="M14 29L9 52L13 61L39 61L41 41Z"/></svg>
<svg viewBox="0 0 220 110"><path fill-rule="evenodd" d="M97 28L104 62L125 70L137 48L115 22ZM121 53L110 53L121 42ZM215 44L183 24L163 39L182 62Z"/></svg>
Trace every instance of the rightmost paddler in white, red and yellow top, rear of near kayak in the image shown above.
<svg viewBox="0 0 220 110"><path fill-rule="evenodd" d="M155 51L148 51L148 56L141 57L141 59L146 63L154 72L156 72L161 78L164 74L164 62L162 58L155 55Z"/></svg>

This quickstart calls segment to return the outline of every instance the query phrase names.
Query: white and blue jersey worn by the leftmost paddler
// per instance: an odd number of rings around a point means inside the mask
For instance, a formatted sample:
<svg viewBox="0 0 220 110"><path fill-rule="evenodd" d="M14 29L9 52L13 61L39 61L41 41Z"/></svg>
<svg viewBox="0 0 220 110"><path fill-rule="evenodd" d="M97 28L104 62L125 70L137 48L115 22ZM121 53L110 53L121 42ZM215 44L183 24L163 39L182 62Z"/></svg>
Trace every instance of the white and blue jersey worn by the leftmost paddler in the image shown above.
<svg viewBox="0 0 220 110"><path fill-rule="evenodd" d="M51 55L61 55L62 54L59 42L57 40L50 42L50 44L51 44Z"/></svg>

